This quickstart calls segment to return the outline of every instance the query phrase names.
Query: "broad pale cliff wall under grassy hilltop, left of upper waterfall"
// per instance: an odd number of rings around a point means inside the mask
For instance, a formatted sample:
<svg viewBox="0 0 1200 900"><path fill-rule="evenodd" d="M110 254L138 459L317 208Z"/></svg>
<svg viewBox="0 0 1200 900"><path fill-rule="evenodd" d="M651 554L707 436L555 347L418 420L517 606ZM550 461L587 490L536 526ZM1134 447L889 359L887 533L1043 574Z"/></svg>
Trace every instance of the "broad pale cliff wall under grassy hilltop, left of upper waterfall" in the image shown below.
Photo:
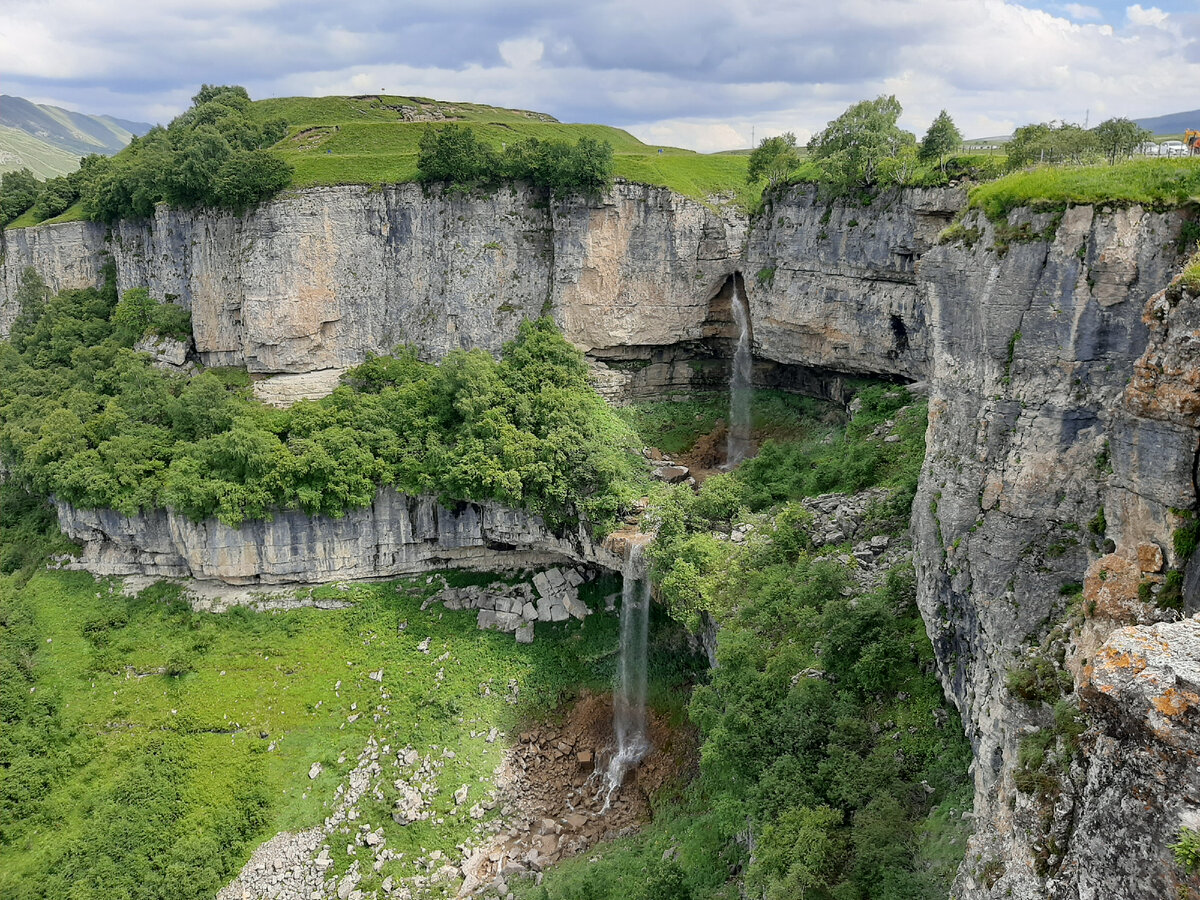
<svg viewBox="0 0 1200 900"><path fill-rule="evenodd" d="M544 312L584 349L698 336L697 282L724 280L744 227L642 185L553 205L517 188L336 187L245 218L161 206L120 224L113 252L122 289L192 310L204 361L299 373L401 343L499 352Z"/></svg>

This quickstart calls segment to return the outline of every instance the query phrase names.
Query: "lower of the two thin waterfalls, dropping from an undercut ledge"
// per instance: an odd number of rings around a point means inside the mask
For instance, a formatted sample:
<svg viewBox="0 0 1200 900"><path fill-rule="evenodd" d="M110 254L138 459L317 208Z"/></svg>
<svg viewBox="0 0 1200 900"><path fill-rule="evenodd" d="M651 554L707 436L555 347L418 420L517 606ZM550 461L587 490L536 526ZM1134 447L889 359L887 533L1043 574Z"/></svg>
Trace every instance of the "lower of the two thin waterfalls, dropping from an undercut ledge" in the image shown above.
<svg viewBox="0 0 1200 900"><path fill-rule="evenodd" d="M625 560L620 594L620 655L613 701L617 752L608 763L608 797L620 787L625 773L650 750L646 736L646 647L650 622L650 577L642 546L634 544ZM606 804L607 805L607 804Z"/></svg>

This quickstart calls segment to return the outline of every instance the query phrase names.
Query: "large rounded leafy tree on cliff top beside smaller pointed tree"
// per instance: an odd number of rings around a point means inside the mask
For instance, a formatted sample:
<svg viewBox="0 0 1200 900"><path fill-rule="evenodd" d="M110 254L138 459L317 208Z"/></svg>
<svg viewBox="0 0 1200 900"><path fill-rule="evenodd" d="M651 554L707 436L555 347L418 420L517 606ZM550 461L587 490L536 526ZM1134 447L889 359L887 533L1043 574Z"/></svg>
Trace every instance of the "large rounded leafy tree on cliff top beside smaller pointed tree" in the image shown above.
<svg viewBox="0 0 1200 900"><path fill-rule="evenodd" d="M894 96L854 103L809 140L821 181L838 193L898 180L908 172L905 154L917 139L896 121L904 108ZM892 166L888 162L892 161Z"/></svg>

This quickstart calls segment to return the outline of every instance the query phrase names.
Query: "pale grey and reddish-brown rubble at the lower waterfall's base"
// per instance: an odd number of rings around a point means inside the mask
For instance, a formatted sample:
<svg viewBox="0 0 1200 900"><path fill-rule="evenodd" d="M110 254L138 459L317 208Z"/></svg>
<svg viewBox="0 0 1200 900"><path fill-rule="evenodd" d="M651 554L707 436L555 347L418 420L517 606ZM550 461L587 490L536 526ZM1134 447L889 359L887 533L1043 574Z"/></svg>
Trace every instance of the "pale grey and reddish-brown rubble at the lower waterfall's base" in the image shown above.
<svg viewBox="0 0 1200 900"><path fill-rule="evenodd" d="M491 785L460 782L449 816L474 823L474 838L455 854L440 850L404 859L388 846L388 828L443 822L434 810L438 779L449 748L394 749L367 740L338 785L330 814L316 828L284 832L260 845L217 900L414 900L430 895L504 896L509 881L580 853L596 841L630 834L649 820L648 797L695 766L696 738L650 714L652 752L612 796L604 773L614 748L612 698L589 695L568 709L562 722L530 726L494 772ZM497 728L474 736L488 743ZM320 766L310 769L320 774ZM390 782L390 784L389 784ZM388 788L385 791L385 788ZM391 798L395 799L391 799ZM610 802L605 809L606 802ZM366 821L368 809L390 802L394 824ZM337 863L344 848L349 862ZM404 859L414 872L379 874ZM364 886L370 877L370 888Z"/></svg>

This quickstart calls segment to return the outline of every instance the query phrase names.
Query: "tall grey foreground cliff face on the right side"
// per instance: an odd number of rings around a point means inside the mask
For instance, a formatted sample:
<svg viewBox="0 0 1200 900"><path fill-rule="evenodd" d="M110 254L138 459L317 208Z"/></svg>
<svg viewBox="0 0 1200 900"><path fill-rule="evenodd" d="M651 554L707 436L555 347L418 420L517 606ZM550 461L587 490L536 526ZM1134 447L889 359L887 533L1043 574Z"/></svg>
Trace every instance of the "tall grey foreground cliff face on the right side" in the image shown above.
<svg viewBox="0 0 1200 900"><path fill-rule="evenodd" d="M1194 427L1148 412L1136 382L1127 391L1148 365L1142 311L1170 281L1180 223L1136 206L1079 206L1061 221L1018 211L997 233L971 214L971 245L936 246L918 266L931 396L913 539L922 612L976 750L962 898L1163 896L1162 842L1136 858L1090 856L1103 838L1082 823L1094 824L1103 802L1079 762L1040 796L1018 790L1021 737L1045 724L1004 679L1050 640L1076 668L1103 642L1106 629L1080 628L1068 610L1103 554L1124 560L1135 600L1163 553L1168 565L1186 562L1172 558L1171 509L1196 504ZM1006 233L1025 240L1006 248ZM1096 616L1094 598L1086 607ZM1146 608L1126 620L1156 617ZM1068 624L1056 637L1058 623ZM1084 745L1105 739L1120 738L1098 724ZM1110 762L1124 764L1121 754ZM1144 784L1140 818L1163 812L1166 792ZM1122 872L1124 892L1114 887Z"/></svg>

